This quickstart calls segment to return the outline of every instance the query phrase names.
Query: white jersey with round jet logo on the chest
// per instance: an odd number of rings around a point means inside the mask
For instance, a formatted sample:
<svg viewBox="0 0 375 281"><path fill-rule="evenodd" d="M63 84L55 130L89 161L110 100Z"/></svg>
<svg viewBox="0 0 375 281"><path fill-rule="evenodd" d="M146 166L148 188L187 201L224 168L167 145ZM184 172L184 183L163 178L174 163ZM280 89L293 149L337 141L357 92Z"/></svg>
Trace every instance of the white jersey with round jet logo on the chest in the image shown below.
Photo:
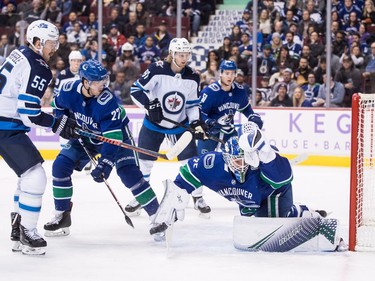
<svg viewBox="0 0 375 281"><path fill-rule="evenodd" d="M171 65L165 61L150 64L131 87L134 103L145 108L150 101L158 98L163 115L177 122L189 122L199 119L199 74L186 66L181 73L174 73ZM175 127L170 122L162 121L158 126L147 117L144 125L153 131L166 134L177 134L184 129ZM172 129L172 130L170 130Z"/></svg>

